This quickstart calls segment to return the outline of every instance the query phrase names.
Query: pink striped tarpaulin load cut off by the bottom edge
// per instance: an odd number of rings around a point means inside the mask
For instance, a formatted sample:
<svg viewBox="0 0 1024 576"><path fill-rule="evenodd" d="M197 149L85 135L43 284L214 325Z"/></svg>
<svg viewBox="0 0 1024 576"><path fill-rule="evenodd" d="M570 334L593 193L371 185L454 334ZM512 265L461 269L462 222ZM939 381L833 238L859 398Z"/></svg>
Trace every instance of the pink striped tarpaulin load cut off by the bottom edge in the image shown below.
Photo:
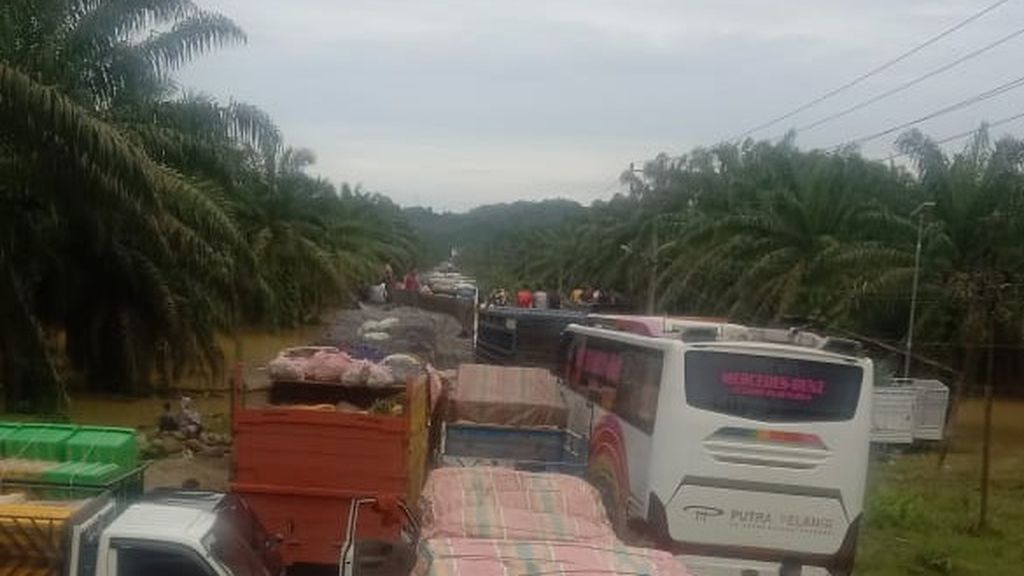
<svg viewBox="0 0 1024 576"><path fill-rule="evenodd" d="M421 540L414 576L686 576L669 552L621 543L472 539Z"/></svg>

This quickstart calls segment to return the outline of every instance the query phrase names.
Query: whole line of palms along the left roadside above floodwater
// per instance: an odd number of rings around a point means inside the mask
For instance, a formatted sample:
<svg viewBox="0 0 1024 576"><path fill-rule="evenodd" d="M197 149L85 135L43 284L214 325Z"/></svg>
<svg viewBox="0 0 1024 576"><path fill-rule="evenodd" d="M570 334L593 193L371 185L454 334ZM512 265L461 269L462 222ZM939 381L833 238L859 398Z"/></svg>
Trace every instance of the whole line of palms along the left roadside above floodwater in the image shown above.
<svg viewBox="0 0 1024 576"><path fill-rule="evenodd" d="M0 381L133 393L222 370L218 334L292 326L409 265L400 210L311 175L255 107L174 81L245 42L190 0L0 3Z"/></svg>

